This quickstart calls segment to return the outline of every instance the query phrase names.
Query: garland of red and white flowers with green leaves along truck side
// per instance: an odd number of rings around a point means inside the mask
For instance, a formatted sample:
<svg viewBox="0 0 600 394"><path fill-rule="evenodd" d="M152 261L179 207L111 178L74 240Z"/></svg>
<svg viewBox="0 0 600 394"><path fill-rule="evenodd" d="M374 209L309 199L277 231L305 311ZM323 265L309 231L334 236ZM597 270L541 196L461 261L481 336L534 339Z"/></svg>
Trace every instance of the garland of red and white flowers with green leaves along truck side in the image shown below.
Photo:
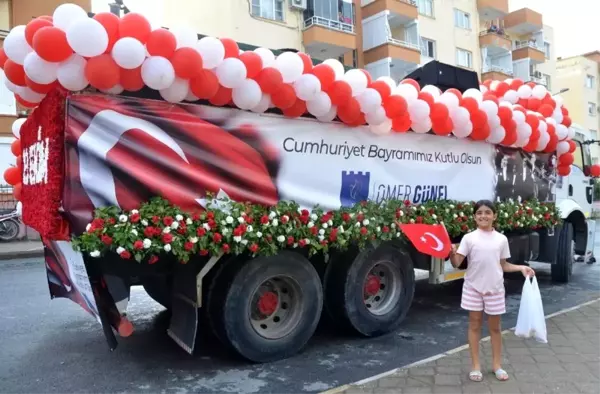
<svg viewBox="0 0 600 394"><path fill-rule="evenodd" d="M496 229L502 232L549 228L560 221L553 203L508 201L497 208ZM221 200L206 211L189 214L154 198L130 212L117 207L97 209L86 232L73 239L73 247L91 257L116 252L123 259L148 264L165 254L186 263L194 255L273 255L286 248L327 253L351 243L364 246L370 240L400 238L399 225L404 223L443 223L456 238L475 229L473 216L469 202L413 205L397 200L362 202L328 212L319 207L300 209L294 202L265 207Z"/></svg>

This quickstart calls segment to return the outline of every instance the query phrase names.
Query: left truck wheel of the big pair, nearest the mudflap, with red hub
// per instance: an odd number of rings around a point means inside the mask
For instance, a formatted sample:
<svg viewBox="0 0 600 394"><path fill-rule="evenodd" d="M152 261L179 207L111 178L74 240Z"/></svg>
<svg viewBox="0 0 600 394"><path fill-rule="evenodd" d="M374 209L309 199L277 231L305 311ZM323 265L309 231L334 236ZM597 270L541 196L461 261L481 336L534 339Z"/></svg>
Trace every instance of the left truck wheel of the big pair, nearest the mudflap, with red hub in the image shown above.
<svg viewBox="0 0 600 394"><path fill-rule="evenodd" d="M209 294L215 335L257 363L302 350L323 308L317 271L305 257L289 251L228 264Z"/></svg>

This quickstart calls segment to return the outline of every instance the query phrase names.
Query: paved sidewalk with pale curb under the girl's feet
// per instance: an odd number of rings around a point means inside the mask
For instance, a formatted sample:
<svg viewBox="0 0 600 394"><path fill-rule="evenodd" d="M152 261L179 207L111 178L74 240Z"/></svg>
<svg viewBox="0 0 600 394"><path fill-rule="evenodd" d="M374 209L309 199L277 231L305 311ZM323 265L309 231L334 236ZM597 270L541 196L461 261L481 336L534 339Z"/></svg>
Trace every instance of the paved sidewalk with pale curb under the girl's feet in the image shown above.
<svg viewBox="0 0 600 394"><path fill-rule="evenodd" d="M600 393L600 300L550 317L548 343L503 335L503 368L510 380L499 382L490 370L491 345L481 344L483 382L469 381L466 346L426 363L401 368L363 385L325 393L345 394L542 394ZM466 336L466 333L465 333ZM325 394L323 393L323 394Z"/></svg>

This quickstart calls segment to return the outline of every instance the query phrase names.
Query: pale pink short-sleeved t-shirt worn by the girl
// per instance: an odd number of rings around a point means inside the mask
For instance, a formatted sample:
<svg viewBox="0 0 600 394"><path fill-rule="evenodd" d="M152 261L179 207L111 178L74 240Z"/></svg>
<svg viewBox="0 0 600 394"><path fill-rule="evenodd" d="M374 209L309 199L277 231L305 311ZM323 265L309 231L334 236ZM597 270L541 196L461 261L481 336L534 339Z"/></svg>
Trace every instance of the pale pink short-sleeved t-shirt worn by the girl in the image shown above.
<svg viewBox="0 0 600 394"><path fill-rule="evenodd" d="M469 260L465 282L483 294L504 291L501 259L510 258L508 239L496 230L466 234L456 251Z"/></svg>

